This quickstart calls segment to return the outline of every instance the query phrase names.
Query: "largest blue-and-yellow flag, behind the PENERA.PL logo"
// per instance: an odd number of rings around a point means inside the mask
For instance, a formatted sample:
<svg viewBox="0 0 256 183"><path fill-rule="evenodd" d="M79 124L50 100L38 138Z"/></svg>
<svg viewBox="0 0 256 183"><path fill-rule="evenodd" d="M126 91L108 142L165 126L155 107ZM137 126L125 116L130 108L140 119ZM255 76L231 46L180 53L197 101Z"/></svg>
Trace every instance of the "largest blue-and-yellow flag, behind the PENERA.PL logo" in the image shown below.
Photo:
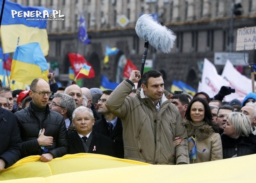
<svg viewBox="0 0 256 183"><path fill-rule="evenodd" d="M0 0L0 5L3 5L3 0ZM34 14L31 12L34 11ZM39 14L41 12L42 18L36 17L36 11ZM47 19L43 17L43 11L47 11L49 14L52 10L45 7L26 7L14 2L5 1L4 11L2 16L2 23L0 29L0 35L2 40L2 48L4 53L14 52L17 45L24 45L29 42L39 42L43 54L46 56L49 52L49 42L46 31L47 21L41 19ZM13 12L13 14L12 14ZM21 12L14 15L15 12ZM28 14L30 17L24 17ZM36 20L28 20L36 19Z"/></svg>

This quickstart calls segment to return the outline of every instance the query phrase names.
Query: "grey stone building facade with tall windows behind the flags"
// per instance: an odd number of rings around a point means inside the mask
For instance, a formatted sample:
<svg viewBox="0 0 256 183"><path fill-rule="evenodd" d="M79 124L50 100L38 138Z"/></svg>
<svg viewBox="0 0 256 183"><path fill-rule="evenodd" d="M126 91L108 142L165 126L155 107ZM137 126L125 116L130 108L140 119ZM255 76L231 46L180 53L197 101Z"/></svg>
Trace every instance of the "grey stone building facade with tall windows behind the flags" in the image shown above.
<svg viewBox="0 0 256 183"><path fill-rule="evenodd" d="M96 77L86 79L86 87L99 87L101 75L111 81L120 81L122 67L129 58L138 69L145 40L135 32L140 14L157 14L158 21L173 30L177 39L171 53L164 54L149 45L147 59L153 68L164 75L166 89L170 90L173 80L182 80L197 89L201 80L201 64L204 58L211 62L214 52L235 52L237 28L256 25L256 0L13 0L27 6L44 6L61 10L64 21L49 21L47 24L50 44L47 61L59 63L60 75L64 81L70 66L67 53L77 52L92 64ZM232 14L232 3L242 7L235 9L241 15ZM77 33L80 14L85 17L91 44L83 45ZM129 23L122 27L117 23L125 15ZM231 33L231 16L234 18ZM233 37L233 42L231 41ZM117 47L119 53L110 56L103 64L105 46ZM254 51L249 53L249 62L256 59ZM147 61L146 61L147 62ZM223 66L216 65L221 74ZM243 74L249 76L250 69L243 67Z"/></svg>

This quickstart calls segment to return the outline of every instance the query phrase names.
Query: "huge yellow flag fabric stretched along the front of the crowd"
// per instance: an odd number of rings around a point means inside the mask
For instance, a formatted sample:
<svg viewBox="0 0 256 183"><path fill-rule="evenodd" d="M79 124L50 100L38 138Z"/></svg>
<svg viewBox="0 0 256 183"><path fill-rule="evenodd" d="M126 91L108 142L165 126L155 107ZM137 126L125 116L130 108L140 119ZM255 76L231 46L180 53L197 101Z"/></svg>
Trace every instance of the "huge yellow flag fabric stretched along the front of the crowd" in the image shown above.
<svg viewBox="0 0 256 183"><path fill-rule="evenodd" d="M35 156L2 170L0 180L1 183L246 183L255 181L255 159L254 154L196 164L151 165L89 153L65 155L48 163L38 162L39 156ZM14 179L17 177L21 179Z"/></svg>

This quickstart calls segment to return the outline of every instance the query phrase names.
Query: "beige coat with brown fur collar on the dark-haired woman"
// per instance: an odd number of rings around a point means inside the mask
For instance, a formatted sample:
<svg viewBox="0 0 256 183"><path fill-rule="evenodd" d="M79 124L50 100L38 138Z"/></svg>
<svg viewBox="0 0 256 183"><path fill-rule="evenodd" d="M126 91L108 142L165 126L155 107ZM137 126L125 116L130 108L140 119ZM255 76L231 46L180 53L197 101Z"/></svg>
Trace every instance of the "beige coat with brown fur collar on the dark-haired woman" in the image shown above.
<svg viewBox="0 0 256 183"><path fill-rule="evenodd" d="M213 128L209 124L206 124L206 122L194 124L186 120L185 124L188 138L194 136L197 147L197 159L190 160L190 163L223 159L220 134L215 133ZM193 146L194 143L190 141L188 143L189 155L191 155Z"/></svg>

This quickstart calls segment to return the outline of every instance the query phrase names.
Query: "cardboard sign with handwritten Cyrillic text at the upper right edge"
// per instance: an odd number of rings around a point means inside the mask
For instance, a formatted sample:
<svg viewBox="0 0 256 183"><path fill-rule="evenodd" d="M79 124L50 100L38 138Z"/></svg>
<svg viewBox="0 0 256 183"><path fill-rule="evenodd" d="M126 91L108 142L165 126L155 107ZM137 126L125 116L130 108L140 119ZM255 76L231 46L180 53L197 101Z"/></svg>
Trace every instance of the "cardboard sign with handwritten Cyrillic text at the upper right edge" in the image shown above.
<svg viewBox="0 0 256 183"><path fill-rule="evenodd" d="M256 27L237 29L236 51L252 50L256 48Z"/></svg>

